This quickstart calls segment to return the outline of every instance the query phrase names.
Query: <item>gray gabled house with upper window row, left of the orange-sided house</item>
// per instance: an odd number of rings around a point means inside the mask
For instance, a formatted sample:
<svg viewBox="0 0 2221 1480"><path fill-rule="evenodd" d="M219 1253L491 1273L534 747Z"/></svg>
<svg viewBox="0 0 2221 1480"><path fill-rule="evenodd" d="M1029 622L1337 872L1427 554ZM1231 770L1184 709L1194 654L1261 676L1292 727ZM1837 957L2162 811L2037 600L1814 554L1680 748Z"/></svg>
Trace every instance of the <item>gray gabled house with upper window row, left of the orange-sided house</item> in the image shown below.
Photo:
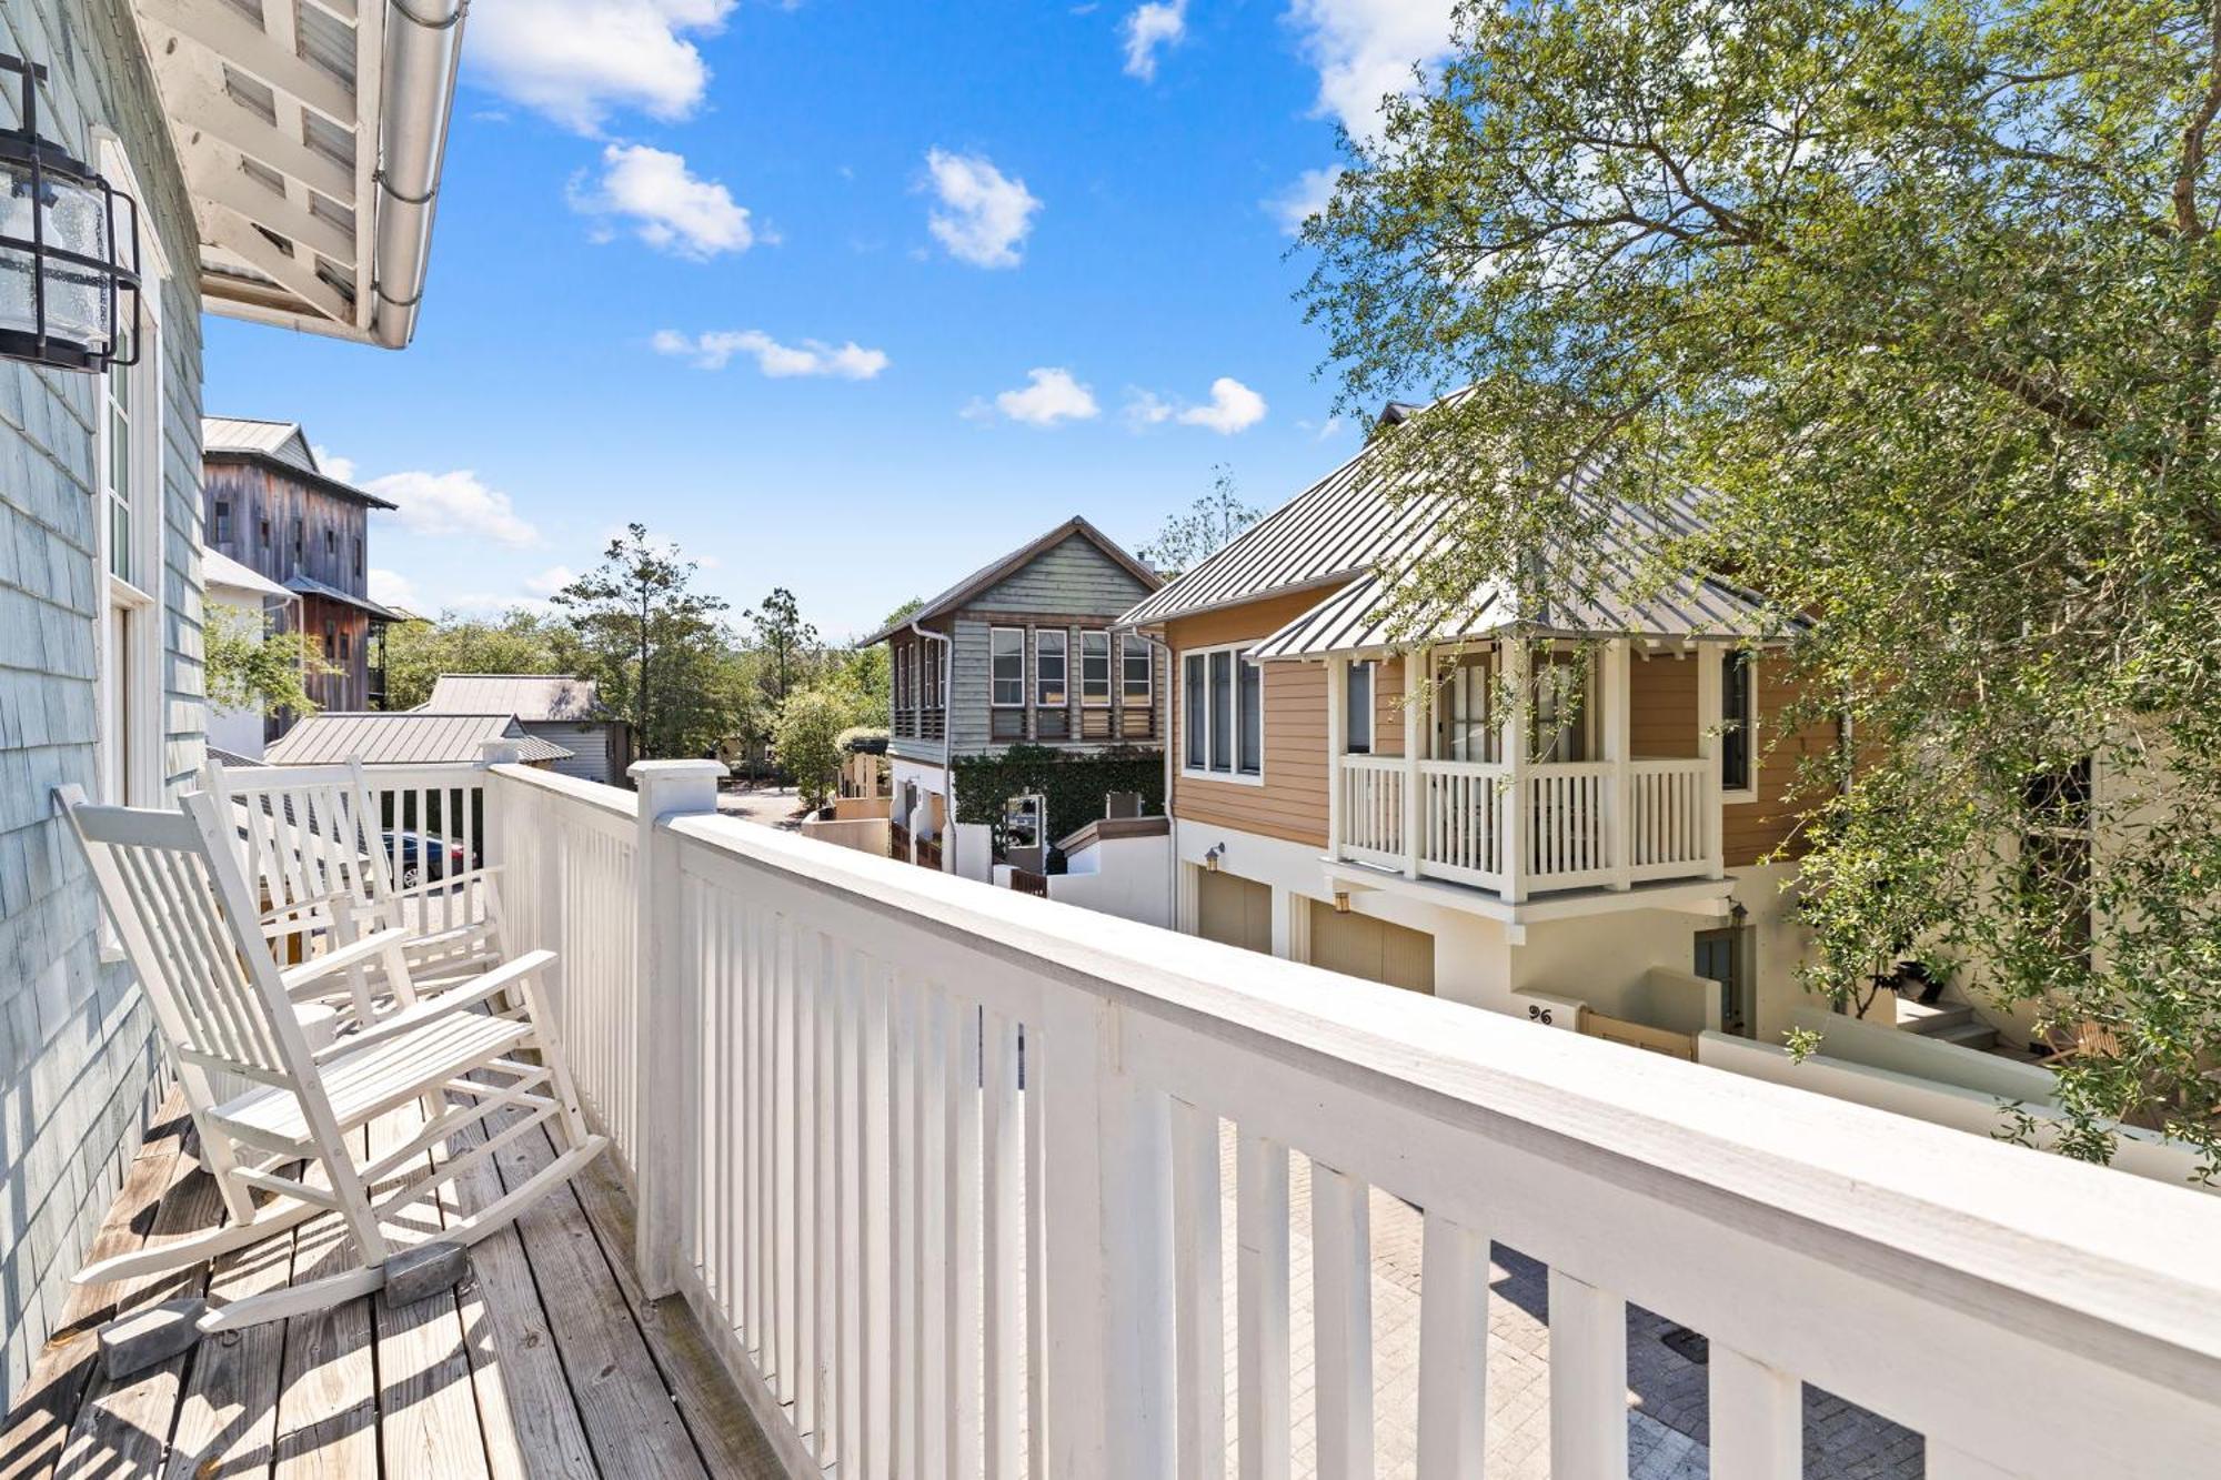
<svg viewBox="0 0 2221 1480"><path fill-rule="evenodd" d="M1162 749L1166 667L1110 622L1162 578L1073 516L864 638L895 676L895 816L946 827L953 758L1046 744ZM919 811L924 809L924 811Z"/></svg>

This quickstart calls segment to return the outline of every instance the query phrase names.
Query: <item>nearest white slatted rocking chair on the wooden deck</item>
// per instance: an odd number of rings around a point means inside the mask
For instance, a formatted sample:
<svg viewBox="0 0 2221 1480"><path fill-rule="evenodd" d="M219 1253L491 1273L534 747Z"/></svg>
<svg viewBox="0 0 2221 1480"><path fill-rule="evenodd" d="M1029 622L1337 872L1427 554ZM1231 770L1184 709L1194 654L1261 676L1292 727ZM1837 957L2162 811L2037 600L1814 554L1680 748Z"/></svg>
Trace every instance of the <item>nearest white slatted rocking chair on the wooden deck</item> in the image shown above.
<svg viewBox="0 0 2221 1480"><path fill-rule="evenodd" d="M202 1164L231 1218L207 1233L91 1264L78 1271L80 1284L182 1269L335 1211L358 1267L211 1307L198 1327L213 1333L322 1311L382 1289L386 1260L400 1253L384 1227L513 1138L546 1124L557 1156L493 1204L449 1222L440 1242L469 1247L500 1231L609 1144L589 1133L546 1027L535 976L555 960L553 951L520 956L311 1049L293 1007L340 973L382 962L395 993L411 1000L400 960L404 931L371 931L280 967L233 851L233 822L213 796L187 796L180 811L93 807L78 787L58 789L56 800L153 1004L200 1131ZM495 1011L511 993L522 1004ZM537 1062L522 1053L535 1053ZM240 1076L255 1089L218 1102L211 1073ZM426 1104L426 1124L384 1156L358 1158L362 1138L349 1131L409 1102ZM500 1127L489 1122L502 1111L526 1113ZM480 1144L371 1196L393 1173L422 1164L433 1144L478 1122L486 1122ZM302 1162L304 1171L289 1176ZM258 1191L271 1200L258 1207L251 1196Z"/></svg>

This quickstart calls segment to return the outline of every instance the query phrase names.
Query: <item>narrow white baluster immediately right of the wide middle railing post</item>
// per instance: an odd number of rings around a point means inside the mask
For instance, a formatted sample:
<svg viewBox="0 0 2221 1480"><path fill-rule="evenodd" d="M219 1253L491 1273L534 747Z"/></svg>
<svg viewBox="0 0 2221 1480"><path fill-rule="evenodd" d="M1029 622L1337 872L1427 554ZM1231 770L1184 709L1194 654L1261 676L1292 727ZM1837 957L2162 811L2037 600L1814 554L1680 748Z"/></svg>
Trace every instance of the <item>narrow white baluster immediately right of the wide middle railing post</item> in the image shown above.
<svg viewBox="0 0 2221 1480"><path fill-rule="evenodd" d="M1173 1100L1175 1444L1182 1480L1226 1476L1226 1271L1219 1118Z"/></svg>

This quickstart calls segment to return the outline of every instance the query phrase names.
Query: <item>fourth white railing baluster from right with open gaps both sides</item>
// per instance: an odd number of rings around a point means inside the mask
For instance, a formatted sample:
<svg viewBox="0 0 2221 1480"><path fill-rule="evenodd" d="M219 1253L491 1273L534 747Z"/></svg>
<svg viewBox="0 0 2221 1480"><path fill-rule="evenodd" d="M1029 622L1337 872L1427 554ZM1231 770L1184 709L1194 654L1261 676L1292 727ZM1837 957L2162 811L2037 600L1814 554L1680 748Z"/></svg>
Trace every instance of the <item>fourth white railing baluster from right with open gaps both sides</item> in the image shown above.
<svg viewBox="0 0 2221 1480"><path fill-rule="evenodd" d="M1373 1218L1368 1189L1310 1162L1310 1333L1319 1480L1373 1473Z"/></svg>

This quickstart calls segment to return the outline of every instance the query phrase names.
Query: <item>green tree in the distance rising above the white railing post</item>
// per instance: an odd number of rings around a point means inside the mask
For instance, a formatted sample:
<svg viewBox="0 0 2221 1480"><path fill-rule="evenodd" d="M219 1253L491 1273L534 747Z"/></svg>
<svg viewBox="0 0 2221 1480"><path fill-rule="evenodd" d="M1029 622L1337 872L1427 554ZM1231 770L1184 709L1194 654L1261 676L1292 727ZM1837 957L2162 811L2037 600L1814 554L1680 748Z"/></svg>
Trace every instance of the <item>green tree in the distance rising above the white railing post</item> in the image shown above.
<svg viewBox="0 0 2221 1480"><path fill-rule="evenodd" d="M633 727L644 758L700 756L728 733L724 600L695 591L693 576L675 544L626 524L600 567L555 593L602 702Z"/></svg>

